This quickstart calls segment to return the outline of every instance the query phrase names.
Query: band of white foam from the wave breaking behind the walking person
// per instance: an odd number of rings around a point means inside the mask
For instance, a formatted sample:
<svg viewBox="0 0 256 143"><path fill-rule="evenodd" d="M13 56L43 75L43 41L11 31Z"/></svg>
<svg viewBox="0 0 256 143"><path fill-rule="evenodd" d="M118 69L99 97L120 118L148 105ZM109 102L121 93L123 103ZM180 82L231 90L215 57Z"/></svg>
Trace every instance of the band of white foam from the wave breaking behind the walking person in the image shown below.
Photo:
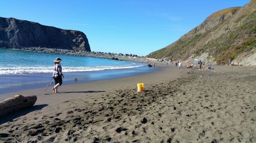
<svg viewBox="0 0 256 143"><path fill-rule="evenodd" d="M84 72L84 71L101 71L114 69L128 69L142 67L142 65L134 66L97 66L97 67L62 67L62 72ZM24 74L24 73L52 73L53 67L0 67L0 75L4 74Z"/></svg>

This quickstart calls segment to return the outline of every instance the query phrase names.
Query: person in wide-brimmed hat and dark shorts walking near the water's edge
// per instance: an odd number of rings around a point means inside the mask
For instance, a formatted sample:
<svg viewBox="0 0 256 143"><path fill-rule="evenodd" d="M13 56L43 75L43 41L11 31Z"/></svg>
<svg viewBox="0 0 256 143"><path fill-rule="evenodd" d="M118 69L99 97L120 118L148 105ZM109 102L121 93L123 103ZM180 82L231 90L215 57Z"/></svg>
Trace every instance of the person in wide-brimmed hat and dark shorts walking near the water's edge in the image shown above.
<svg viewBox="0 0 256 143"><path fill-rule="evenodd" d="M62 78L64 78L64 75L62 74L62 67L60 65L60 58L56 58L54 60L54 72L53 72L53 79L55 81L55 85L52 88L52 93L57 93L58 92L58 87L62 84Z"/></svg>

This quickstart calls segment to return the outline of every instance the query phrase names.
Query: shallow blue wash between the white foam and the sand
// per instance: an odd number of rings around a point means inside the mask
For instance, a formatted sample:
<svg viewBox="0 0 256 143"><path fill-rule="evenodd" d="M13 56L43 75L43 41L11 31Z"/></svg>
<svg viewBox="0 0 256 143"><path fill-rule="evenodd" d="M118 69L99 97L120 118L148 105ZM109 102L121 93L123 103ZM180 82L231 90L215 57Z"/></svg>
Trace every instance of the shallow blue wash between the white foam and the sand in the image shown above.
<svg viewBox="0 0 256 143"><path fill-rule="evenodd" d="M126 76L150 73L150 72L155 72L159 70L159 68L160 67L148 68L146 65L144 65L144 66L135 67L135 68L124 68L124 69L113 69L113 70L65 72L65 78L63 78L63 84L69 85L69 84L76 83L74 81L75 77L77 77L78 83L81 83L81 82L89 82L94 80L114 79L114 78L121 78ZM29 90L29 89L35 89L35 88L38 89L38 88L46 87L46 84L49 82L51 76L52 76L52 73L27 73L27 74L18 74L18 75L15 75L15 74L0 75L0 78L2 79L0 82L0 86L7 84L6 87L0 88L0 100L2 95L9 92L13 92L13 91L18 92L24 89ZM22 79L24 79L25 81L19 81ZM16 81L17 83L14 83L14 82L9 83L8 80L13 80L13 81ZM54 83L53 79L51 81L53 81ZM23 84L18 84L19 82ZM52 85L53 84L50 84L50 87Z"/></svg>

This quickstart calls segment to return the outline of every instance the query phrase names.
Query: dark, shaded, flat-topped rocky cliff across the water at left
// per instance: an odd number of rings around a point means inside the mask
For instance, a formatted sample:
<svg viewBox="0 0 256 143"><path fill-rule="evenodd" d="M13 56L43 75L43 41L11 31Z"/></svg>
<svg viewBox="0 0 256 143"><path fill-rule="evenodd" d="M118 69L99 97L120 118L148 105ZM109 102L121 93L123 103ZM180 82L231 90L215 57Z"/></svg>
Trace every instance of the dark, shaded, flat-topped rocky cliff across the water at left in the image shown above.
<svg viewBox="0 0 256 143"><path fill-rule="evenodd" d="M47 47L91 51L84 33L0 17L0 47Z"/></svg>

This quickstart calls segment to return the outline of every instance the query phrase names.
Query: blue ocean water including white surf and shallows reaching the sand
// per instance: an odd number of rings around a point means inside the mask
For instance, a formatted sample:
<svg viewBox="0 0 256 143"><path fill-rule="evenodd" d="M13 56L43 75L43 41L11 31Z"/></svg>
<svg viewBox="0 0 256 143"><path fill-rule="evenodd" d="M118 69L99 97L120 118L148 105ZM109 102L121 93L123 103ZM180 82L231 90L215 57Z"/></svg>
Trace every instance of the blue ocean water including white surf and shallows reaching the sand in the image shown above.
<svg viewBox="0 0 256 143"><path fill-rule="evenodd" d="M62 59L63 84L74 83L75 78L86 82L154 71L144 63L0 48L0 94L46 87L56 57Z"/></svg>

